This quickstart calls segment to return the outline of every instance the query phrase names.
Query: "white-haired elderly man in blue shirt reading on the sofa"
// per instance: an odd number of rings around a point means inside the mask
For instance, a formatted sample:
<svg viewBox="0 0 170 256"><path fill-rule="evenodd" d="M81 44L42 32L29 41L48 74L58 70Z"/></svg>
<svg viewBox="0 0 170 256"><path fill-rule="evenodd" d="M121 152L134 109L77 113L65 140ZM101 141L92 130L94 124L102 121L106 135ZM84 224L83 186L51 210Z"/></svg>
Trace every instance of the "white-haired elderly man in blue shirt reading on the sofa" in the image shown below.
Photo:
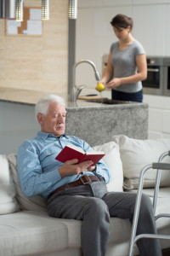
<svg viewBox="0 0 170 256"><path fill-rule="evenodd" d="M83 256L104 256L109 241L110 217L133 220L136 195L107 192L105 183L111 175L103 160L93 166L91 160L77 159L64 164L55 160L71 143L85 152L88 143L65 135L65 102L55 95L45 96L36 105L41 131L20 145L17 154L20 187L26 196L47 198L48 214L54 218L82 220ZM138 234L156 234L156 223L150 199L143 195L139 214ZM140 255L161 256L156 239L138 241ZM115 255L117 256L117 255Z"/></svg>

